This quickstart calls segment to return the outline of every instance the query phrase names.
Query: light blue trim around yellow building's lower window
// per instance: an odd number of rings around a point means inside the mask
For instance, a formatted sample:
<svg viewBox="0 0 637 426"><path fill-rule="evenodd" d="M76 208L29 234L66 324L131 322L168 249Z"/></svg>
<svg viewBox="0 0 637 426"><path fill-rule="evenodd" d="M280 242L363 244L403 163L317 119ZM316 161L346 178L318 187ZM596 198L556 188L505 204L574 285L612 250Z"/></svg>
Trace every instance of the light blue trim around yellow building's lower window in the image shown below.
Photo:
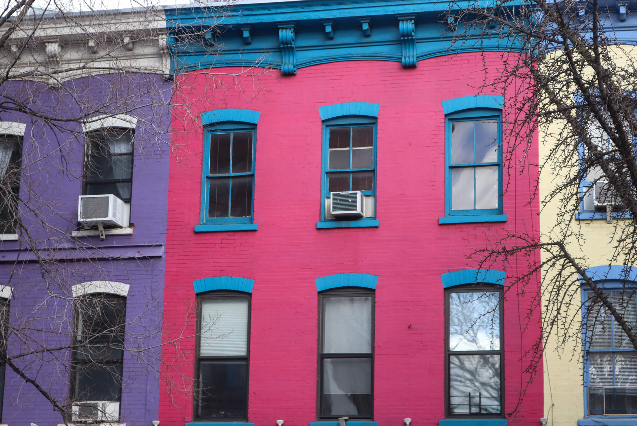
<svg viewBox="0 0 637 426"><path fill-rule="evenodd" d="M625 290L627 287L637 287L637 267L627 267L625 268L622 265L602 265L598 267L590 267L586 268L585 272L589 275L599 288L603 290ZM580 280L582 277L580 276ZM581 300L582 300L582 335L587 335L587 324L586 324L586 315L588 312L588 305L585 303L588 300L586 293L590 291L589 288L583 287L581 291ZM586 341L587 339L585 339ZM585 343L587 345L588 342ZM626 422L630 422L631 425L634 425L635 418L637 418L637 414L626 414L626 415L589 415L589 401L586 397L590 385L590 376L589 376L589 360L588 353L590 349L588 346L583 348L584 356L583 356L583 376L584 376L584 392L583 392L583 402L584 402L584 413L583 419L577 421L578 426L598 426L599 420L596 419L604 419L603 423L608 423L612 426L627 426ZM607 349L593 349L593 351L605 351L608 352ZM634 351L634 349L611 349L612 352L620 352L620 351ZM631 419L631 420L627 420Z"/></svg>

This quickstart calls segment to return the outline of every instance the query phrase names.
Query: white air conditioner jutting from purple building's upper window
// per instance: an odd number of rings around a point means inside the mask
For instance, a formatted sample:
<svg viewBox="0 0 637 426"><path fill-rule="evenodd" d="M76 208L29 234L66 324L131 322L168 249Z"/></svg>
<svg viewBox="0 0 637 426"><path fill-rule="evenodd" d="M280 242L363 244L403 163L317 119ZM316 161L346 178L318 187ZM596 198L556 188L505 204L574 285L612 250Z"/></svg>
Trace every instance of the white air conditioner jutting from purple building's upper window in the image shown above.
<svg viewBox="0 0 637 426"><path fill-rule="evenodd" d="M113 194L80 195L78 222L89 226L124 226L124 202Z"/></svg>

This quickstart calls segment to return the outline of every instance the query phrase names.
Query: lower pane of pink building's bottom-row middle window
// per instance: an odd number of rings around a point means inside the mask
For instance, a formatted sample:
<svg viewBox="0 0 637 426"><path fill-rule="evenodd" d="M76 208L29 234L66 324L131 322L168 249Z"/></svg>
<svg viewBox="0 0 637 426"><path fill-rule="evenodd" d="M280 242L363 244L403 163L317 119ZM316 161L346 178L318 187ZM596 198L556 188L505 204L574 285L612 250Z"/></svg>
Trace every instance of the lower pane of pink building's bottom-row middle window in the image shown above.
<svg viewBox="0 0 637 426"><path fill-rule="evenodd" d="M371 358L323 360L322 416L371 417Z"/></svg>

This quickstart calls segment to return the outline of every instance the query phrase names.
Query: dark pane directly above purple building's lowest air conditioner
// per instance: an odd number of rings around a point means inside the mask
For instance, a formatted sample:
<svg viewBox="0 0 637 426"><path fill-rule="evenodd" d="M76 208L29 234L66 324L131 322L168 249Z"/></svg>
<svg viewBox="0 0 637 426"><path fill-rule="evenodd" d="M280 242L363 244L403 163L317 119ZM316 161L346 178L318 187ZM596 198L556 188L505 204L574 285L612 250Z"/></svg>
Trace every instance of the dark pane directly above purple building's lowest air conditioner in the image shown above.
<svg viewBox="0 0 637 426"><path fill-rule="evenodd" d="M122 364L76 364L75 400L118 401L122 395Z"/></svg>

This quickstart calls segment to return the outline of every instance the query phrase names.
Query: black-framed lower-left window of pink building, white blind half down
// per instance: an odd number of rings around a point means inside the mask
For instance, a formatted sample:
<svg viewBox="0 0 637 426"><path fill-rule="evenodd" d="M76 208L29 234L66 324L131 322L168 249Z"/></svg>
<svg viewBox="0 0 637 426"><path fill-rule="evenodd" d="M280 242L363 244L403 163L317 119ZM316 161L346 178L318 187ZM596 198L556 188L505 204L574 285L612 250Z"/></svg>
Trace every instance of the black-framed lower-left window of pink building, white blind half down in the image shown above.
<svg viewBox="0 0 637 426"><path fill-rule="evenodd" d="M194 418L247 421L250 295L199 296Z"/></svg>

